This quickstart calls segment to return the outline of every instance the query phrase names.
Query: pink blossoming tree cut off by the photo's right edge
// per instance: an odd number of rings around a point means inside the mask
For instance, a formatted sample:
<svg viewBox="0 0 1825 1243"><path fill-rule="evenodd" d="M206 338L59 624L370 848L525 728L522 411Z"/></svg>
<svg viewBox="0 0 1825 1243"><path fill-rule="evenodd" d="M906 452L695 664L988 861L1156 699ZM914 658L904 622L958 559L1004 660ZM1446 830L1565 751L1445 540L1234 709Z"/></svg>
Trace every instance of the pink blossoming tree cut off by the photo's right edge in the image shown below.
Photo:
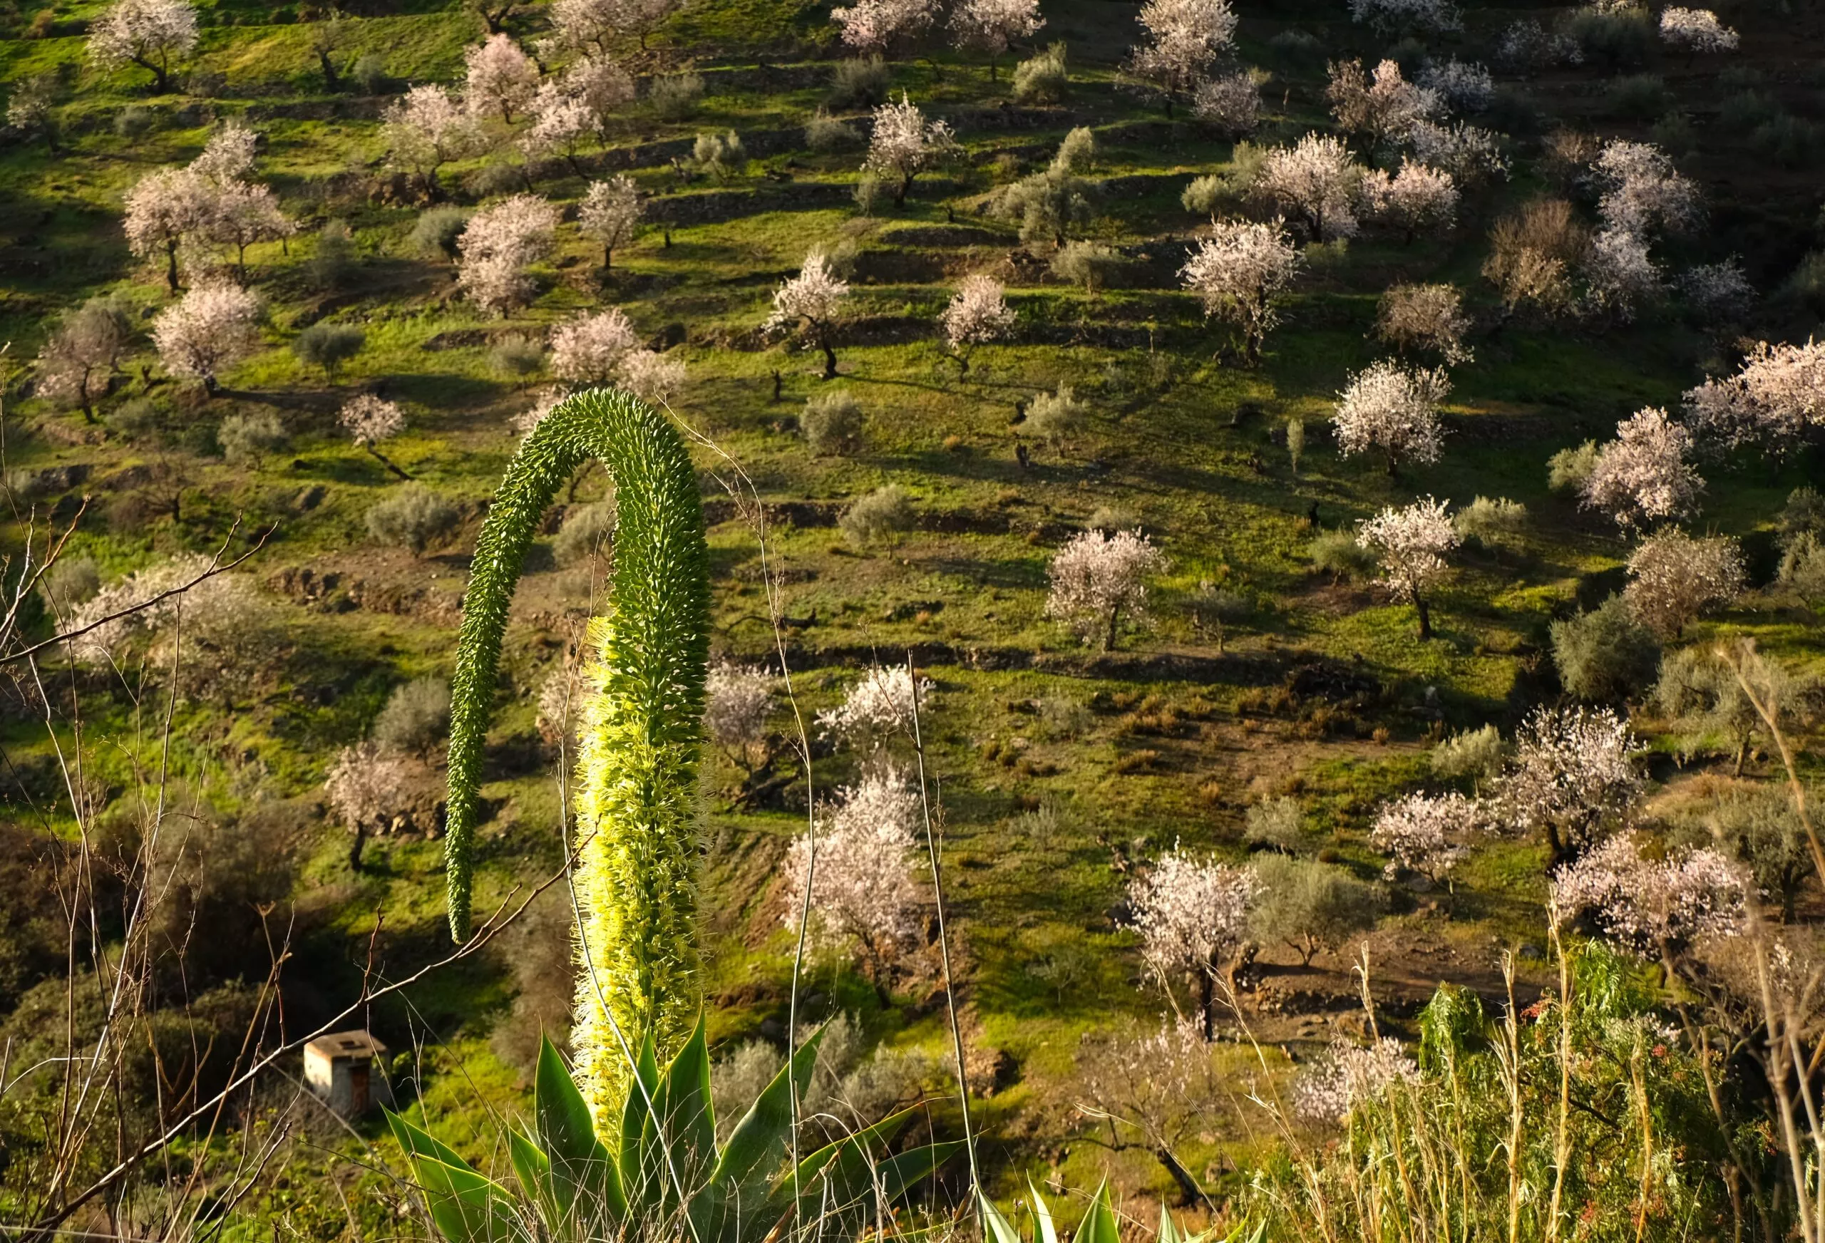
<svg viewBox="0 0 1825 1243"><path fill-rule="evenodd" d="M1692 427L1726 447L1757 444L1779 456L1825 423L1825 341L1756 341L1741 371L1684 396Z"/></svg>

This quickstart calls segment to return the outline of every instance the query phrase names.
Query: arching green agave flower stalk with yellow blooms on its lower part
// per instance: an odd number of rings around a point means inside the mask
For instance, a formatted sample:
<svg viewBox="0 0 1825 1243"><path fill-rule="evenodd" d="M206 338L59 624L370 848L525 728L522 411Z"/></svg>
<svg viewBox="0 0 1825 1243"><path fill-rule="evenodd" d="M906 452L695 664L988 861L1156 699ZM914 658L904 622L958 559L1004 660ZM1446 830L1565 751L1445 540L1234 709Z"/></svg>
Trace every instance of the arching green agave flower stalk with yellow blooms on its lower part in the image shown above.
<svg viewBox="0 0 1825 1243"><path fill-rule="evenodd" d="M571 1039L584 1095L602 1119L628 1082L628 1050L650 1037L670 1057L699 1008L694 796L708 549L683 438L626 392L579 392L540 420L482 524L451 679L445 858L451 935L464 940L482 743L507 606L540 515L588 458L600 458L615 480L617 527L608 611L589 624L580 712L575 885L584 969Z"/></svg>

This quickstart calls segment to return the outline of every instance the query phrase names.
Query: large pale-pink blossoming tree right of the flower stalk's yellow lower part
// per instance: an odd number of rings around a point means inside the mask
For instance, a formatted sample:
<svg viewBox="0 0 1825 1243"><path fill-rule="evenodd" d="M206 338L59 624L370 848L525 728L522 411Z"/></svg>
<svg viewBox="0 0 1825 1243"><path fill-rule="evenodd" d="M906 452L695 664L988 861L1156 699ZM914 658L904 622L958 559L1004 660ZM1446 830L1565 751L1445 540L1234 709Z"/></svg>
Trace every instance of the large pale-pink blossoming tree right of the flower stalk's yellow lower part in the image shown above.
<svg viewBox="0 0 1825 1243"><path fill-rule="evenodd" d="M838 790L836 803L818 809L814 832L787 847L787 927L798 931L808 882L812 944L852 944L881 987L918 935L918 792L902 772L881 767Z"/></svg>

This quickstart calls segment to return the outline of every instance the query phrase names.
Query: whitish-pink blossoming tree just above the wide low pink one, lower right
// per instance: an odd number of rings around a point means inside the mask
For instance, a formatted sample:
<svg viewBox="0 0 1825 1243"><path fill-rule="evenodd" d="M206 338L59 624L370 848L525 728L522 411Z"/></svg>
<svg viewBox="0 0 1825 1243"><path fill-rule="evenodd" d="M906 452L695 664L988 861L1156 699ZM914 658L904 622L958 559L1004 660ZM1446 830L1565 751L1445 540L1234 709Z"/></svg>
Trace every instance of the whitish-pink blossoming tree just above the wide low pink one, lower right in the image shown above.
<svg viewBox="0 0 1825 1243"><path fill-rule="evenodd" d="M1633 812L1641 794L1633 750L1628 723L1610 708L1535 708L1496 781L1502 823L1546 832L1555 860L1588 849Z"/></svg>

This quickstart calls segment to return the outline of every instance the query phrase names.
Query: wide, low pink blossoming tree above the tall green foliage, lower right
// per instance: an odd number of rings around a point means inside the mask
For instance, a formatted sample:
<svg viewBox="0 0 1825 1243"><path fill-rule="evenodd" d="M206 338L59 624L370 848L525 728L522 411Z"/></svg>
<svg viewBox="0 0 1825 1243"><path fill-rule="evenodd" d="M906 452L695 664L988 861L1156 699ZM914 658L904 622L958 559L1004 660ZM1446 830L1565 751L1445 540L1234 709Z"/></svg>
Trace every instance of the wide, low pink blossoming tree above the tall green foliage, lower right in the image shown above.
<svg viewBox="0 0 1825 1243"><path fill-rule="evenodd" d="M1726 936L1743 924L1750 883L1743 869L1712 849L1642 858L1617 834L1553 872L1559 918L1591 914L1602 931L1641 956Z"/></svg>

